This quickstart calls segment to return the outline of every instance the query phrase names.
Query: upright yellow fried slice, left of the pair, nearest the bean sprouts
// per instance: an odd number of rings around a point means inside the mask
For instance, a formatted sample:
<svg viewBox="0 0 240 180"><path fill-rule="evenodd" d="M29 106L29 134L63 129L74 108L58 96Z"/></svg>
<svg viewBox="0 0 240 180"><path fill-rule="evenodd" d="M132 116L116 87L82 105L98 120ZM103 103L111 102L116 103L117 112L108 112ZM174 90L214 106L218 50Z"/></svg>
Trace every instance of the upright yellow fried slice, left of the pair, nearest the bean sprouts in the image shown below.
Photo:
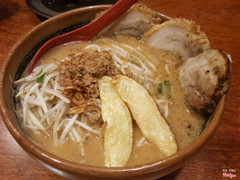
<svg viewBox="0 0 240 180"><path fill-rule="evenodd" d="M107 76L99 80L102 118L107 123L104 130L105 166L122 167L132 151L132 117L111 80Z"/></svg>

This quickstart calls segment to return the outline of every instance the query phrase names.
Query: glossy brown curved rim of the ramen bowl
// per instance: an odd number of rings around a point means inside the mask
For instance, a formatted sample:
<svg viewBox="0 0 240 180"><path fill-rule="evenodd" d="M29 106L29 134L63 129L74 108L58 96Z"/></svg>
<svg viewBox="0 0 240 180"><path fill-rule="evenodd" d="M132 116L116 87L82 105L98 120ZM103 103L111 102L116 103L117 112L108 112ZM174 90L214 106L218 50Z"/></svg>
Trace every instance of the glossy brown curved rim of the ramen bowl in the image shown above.
<svg viewBox="0 0 240 180"><path fill-rule="evenodd" d="M37 159L40 159L46 164L49 164L57 169L62 169L68 172L74 173L81 173L85 175L91 176L98 176L98 177L131 177L136 175L143 175L149 172L158 171L160 169L165 169L170 167L171 165L179 162L187 160L191 155L193 155L196 151L198 151L206 142L207 140L213 135L215 130L217 129L219 122L221 120L221 114L224 109L225 99L226 96L224 95L221 100L219 101L215 112L218 111L219 113L213 113L213 118L211 118L210 122L208 123L207 127L205 127L204 131L189 145L187 145L184 149L179 150L178 152L174 153L171 156L164 158L163 160L144 164L144 165L136 165L136 166L129 166L129 167L100 167L100 166L93 166L93 165L85 165L80 163L71 162L60 157L57 157L51 153L40 148L38 145L34 144L26 135L19 129L14 121L10 118L10 115L7 111L7 106L4 103L4 91L3 91L3 80L6 78L4 75L6 73L6 67L10 64L10 59L12 54L28 39L29 36L39 27L47 26L51 24L56 19L62 19L63 17L72 16L75 13L82 13L89 10L100 10L103 8L109 8L110 5L96 5L96 6L87 6L82 8L77 8L74 10L70 10L59 14L55 17L52 17L39 25L35 26L32 30L30 30L27 34L25 34L10 50L9 54L7 55L5 61L3 61L3 65L0 70L0 112L2 115L2 119L17 141L17 143L31 156L34 156ZM165 16L165 15L163 15ZM166 17L166 16L165 16ZM208 120L209 121L209 120ZM124 172L124 173L123 173Z"/></svg>

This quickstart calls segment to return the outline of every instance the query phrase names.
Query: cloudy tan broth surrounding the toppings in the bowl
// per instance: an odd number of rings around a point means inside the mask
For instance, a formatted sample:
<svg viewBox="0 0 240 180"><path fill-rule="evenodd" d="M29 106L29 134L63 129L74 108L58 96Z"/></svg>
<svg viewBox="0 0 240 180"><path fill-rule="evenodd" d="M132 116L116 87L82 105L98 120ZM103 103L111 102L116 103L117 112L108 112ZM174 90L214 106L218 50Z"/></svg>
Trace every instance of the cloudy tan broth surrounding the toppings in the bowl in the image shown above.
<svg viewBox="0 0 240 180"><path fill-rule="evenodd" d="M131 68L125 68L124 71L127 76L130 76L142 84L153 96L159 105L161 113L165 116L170 129L175 135L178 150L183 149L199 135L205 119L201 115L192 112L185 103L184 93L179 83L177 71L181 60L177 55L147 46L129 36L118 36L117 38L99 38L88 43L63 45L45 54L42 60L38 62L38 65L61 60L73 53L96 51L98 50L97 47L100 47L101 50L112 48L118 52L124 50L127 51L130 56L134 54L133 57L129 58L131 61L130 64L137 65L139 63L135 62L137 58L143 60L142 63L144 66L148 67L151 71L148 72L146 70L144 73L148 73L151 79L143 78L142 72L132 72ZM129 60L125 61L127 62ZM164 82L165 80L170 82L171 94L170 97L167 98L167 102L161 102L158 85L159 82ZM164 110L164 107L168 107L167 110ZM77 163L104 166L103 136L101 134L99 136L94 134L85 136L83 142L84 148L82 148L81 143L73 142L70 138L62 145L54 145L52 136L47 136L41 132L33 132L26 127L25 130L36 144L50 153ZM82 133L89 132L83 130ZM51 134L51 132L49 132L49 134ZM156 151L158 151L158 149L144 139L140 129L133 121L133 149L126 166L150 163L162 159L164 156L157 154Z"/></svg>

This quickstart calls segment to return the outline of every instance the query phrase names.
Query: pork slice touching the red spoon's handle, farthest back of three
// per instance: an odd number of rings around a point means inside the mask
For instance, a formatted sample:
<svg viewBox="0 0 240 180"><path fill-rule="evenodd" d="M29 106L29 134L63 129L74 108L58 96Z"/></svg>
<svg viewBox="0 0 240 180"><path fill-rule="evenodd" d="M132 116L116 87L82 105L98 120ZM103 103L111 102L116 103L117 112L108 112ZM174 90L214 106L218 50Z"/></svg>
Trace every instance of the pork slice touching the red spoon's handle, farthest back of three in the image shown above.
<svg viewBox="0 0 240 180"><path fill-rule="evenodd" d="M139 37L161 21L159 13L147 8L143 3L136 3L128 12L106 27L100 35L120 34Z"/></svg>

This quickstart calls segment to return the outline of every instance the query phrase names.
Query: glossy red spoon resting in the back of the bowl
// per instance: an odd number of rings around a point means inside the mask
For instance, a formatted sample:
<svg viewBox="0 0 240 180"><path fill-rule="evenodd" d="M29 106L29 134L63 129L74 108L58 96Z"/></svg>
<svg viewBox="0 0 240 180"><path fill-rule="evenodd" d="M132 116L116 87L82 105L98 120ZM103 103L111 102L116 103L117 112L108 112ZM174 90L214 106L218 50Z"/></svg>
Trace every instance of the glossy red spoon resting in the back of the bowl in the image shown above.
<svg viewBox="0 0 240 180"><path fill-rule="evenodd" d="M138 0L119 0L102 16L95 19L91 23L78 28L74 31L62 34L48 40L34 55L29 68L29 73L32 73L35 63L46 51L72 41L89 41L96 36L105 27L115 21L123 13L125 13Z"/></svg>

